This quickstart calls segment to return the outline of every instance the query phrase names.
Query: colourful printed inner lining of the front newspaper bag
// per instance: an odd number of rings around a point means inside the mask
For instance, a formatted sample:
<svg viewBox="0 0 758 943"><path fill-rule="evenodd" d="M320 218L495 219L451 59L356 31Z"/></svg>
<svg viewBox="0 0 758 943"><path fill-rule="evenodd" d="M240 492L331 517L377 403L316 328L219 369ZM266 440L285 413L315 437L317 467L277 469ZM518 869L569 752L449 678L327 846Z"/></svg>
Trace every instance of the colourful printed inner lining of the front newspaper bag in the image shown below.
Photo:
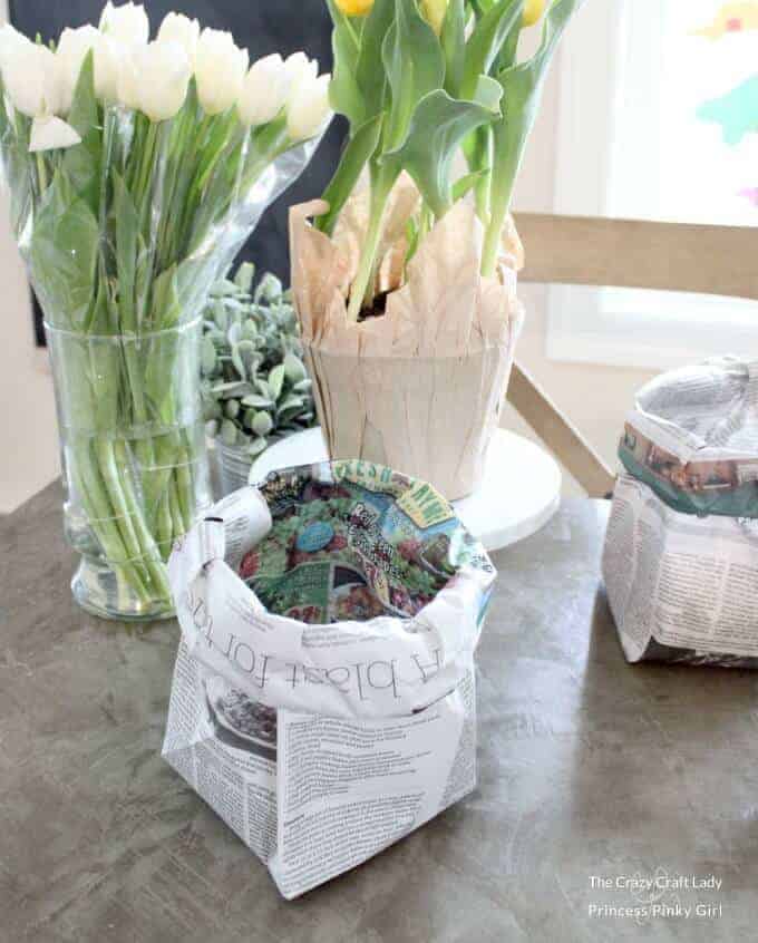
<svg viewBox="0 0 758 943"><path fill-rule="evenodd" d="M271 612L308 623L408 618L459 566L492 570L447 502L381 466L274 473L261 492L273 527L240 575Z"/></svg>

